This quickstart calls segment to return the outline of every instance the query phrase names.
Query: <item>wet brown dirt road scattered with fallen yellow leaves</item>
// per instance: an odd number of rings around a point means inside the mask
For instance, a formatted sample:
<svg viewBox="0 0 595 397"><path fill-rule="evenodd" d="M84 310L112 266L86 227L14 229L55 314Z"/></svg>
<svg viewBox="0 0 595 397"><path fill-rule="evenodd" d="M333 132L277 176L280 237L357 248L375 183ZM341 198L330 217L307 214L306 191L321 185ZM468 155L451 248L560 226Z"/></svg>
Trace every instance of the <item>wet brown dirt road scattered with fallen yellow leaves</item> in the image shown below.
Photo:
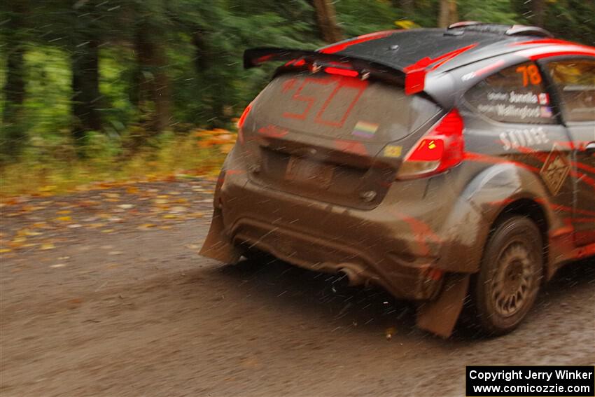
<svg viewBox="0 0 595 397"><path fill-rule="evenodd" d="M463 396L465 365L595 363L595 263L511 335L441 340L377 289L202 258L212 188L5 202L1 396Z"/></svg>

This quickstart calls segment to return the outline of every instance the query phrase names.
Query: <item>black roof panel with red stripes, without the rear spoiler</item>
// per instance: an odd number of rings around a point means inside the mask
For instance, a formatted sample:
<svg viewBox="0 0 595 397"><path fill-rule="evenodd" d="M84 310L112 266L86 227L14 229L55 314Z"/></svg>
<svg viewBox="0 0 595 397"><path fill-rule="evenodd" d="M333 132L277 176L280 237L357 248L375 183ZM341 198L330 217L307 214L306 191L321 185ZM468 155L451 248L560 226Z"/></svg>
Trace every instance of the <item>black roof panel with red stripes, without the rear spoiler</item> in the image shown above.
<svg viewBox="0 0 595 397"><path fill-rule="evenodd" d="M365 34L318 51L379 62L402 71L416 65L433 65L432 70L447 71L527 48L554 43L575 45L550 37L540 28L463 22L447 29L390 30Z"/></svg>

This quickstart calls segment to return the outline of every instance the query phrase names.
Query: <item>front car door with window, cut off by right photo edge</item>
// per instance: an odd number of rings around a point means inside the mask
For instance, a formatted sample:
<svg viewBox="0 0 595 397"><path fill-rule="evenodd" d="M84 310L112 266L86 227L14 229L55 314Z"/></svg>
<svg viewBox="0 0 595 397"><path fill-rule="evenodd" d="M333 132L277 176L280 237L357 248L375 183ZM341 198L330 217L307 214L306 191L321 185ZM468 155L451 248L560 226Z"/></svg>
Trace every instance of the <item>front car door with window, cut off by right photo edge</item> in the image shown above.
<svg viewBox="0 0 595 397"><path fill-rule="evenodd" d="M543 63L575 149L575 244L595 244L595 57Z"/></svg>

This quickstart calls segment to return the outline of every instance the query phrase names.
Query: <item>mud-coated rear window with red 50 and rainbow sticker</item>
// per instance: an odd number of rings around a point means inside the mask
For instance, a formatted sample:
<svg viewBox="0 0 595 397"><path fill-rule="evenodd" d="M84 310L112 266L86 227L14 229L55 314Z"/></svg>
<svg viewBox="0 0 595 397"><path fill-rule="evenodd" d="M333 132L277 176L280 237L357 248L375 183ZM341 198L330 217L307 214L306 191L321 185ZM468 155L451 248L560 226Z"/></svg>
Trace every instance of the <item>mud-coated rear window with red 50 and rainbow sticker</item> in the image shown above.
<svg viewBox="0 0 595 397"><path fill-rule="evenodd" d="M329 138L393 141L440 111L403 88L332 74L283 74L258 96L258 118Z"/></svg>

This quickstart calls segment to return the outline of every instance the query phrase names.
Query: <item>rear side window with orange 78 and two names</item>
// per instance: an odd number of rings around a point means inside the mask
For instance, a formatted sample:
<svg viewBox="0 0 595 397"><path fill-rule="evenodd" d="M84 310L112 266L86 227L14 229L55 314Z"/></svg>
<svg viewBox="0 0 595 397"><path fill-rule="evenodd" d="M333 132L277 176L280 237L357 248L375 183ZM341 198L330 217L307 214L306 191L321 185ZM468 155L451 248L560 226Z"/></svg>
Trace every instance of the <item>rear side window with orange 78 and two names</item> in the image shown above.
<svg viewBox="0 0 595 397"><path fill-rule="evenodd" d="M465 93L472 110L502 123L556 123L540 71L533 62L507 67Z"/></svg>

